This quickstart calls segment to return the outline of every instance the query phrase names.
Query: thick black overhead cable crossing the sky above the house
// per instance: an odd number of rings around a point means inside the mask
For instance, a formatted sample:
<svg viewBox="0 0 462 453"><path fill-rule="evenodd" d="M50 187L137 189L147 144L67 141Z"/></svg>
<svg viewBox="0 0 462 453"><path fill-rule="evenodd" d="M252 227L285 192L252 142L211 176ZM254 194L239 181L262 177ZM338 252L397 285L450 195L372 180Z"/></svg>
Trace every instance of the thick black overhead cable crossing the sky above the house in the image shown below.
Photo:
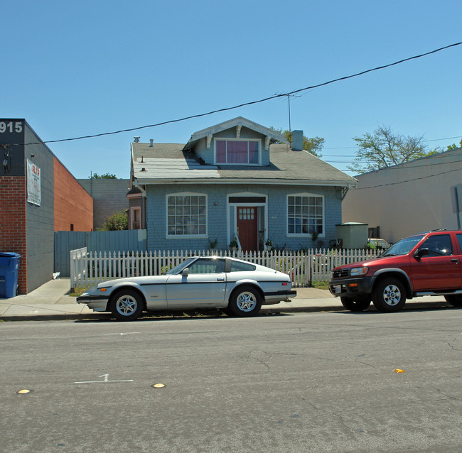
<svg viewBox="0 0 462 453"><path fill-rule="evenodd" d="M409 57L409 58L404 58L403 60L398 60L398 61L395 61L393 63L389 63L388 65L377 66L377 67L374 67L372 69L357 72L357 73L352 74L352 75L347 75L347 76L344 76L344 77L339 77L338 79L329 80L328 82L323 82L323 83L320 83L320 84L311 85L310 87L304 87L304 88L300 88L300 89L295 89L294 91L291 91L291 92L281 93L281 94L274 94L272 96L265 97L264 99L259 99L257 101L244 102L242 104L238 104L238 105L235 105L233 107L225 107L225 108L222 108L222 109L216 109L216 110L208 111L208 112L202 113L202 114L184 116L183 118L171 119L171 120L168 120L168 121L161 121L160 123L156 123L156 124L148 124L146 126L139 126L139 127L129 128L129 129L120 129L119 131L95 133L93 135L87 135L87 136L80 136L80 137L73 137L73 138L61 138L59 140L48 140L48 141L35 142L35 143L25 143L25 144L26 145L36 145L36 144L40 144L40 143L58 143L58 142L63 142L63 141L82 140L84 138L97 138L97 137L102 137L102 136L115 135L117 133L139 131L141 129L148 129L148 128L151 128L151 127L164 126L166 124L178 123L178 122L181 122L181 121L186 121L188 119L200 118L201 116L208 116L208 115L220 113L222 111L229 111L229 110L239 109L240 107L247 107L249 105L259 104L259 103L262 103L262 102L267 102L267 101L269 101L271 99L277 99L279 97L285 97L285 96L290 97L291 95L306 91L307 89L325 87L328 84L332 84L332 83L335 83L335 82L340 82L342 80L352 79L353 77L358 77L360 75L365 75L368 72L382 70L382 69L385 69L387 67L392 67L392 66L395 66L395 65L399 65L399 64L401 64L403 62L407 62L407 61L410 61L410 60L416 60L417 58L426 57L427 55L431 55L433 53L441 52L441 50L446 50L448 48L453 48L453 47L456 47L457 45L461 45L461 44L462 44L462 42L453 43L453 44L450 44L450 45L445 45L444 47L441 47L441 48L438 48L438 49L435 49L435 50L431 50L430 52L421 53L420 55L414 55L413 57Z"/></svg>

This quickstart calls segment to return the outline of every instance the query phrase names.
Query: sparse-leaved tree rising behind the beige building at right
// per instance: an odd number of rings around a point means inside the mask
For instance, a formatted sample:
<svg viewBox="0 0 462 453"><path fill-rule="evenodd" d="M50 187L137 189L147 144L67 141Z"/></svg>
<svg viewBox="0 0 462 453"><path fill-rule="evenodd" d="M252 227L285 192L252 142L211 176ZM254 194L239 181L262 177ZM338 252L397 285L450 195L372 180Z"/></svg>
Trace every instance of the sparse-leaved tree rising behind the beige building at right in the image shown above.
<svg viewBox="0 0 462 453"><path fill-rule="evenodd" d="M422 143L423 136L402 136L393 133L390 126L379 126L374 133L365 133L353 140L358 143L359 149L353 165L348 168L358 173L380 170L442 151L439 148L429 150Z"/></svg>

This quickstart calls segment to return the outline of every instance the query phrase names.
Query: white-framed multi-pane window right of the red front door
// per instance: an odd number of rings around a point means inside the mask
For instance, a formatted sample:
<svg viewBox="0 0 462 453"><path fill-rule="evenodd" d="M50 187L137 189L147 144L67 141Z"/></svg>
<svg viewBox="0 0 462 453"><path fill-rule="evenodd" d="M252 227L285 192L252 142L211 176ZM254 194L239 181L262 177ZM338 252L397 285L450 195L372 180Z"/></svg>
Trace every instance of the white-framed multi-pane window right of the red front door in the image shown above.
<svg viewBox="0 0 462 453"><path fill-rule="evenodd" d="M324 234L323 197L289 195L287 197L288 234Z"/></svg>

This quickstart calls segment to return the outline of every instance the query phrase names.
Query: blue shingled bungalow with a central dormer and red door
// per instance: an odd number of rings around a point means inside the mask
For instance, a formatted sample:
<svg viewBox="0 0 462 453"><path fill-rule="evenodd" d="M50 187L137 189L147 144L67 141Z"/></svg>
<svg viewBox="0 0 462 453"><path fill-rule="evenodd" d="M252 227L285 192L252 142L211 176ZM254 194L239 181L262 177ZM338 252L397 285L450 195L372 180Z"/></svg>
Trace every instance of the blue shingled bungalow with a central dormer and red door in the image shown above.
<svg viewBox="0 0 462 453"><path fill-rule="evenodd" d="M298 250L335 241L341 202L356 180L242 116L188 143L131 143L129 225L149 250Z"/></svg>

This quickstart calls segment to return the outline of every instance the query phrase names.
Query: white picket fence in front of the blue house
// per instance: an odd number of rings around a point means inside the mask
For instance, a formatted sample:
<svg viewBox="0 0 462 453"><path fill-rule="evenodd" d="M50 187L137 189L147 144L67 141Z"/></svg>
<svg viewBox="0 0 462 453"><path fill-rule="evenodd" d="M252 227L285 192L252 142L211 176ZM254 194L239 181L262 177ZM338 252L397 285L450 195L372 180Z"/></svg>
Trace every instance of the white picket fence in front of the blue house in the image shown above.
<svg viewBox="0 0 462 453"><path fill-rule="evenodd" d="M375 258L373 250L308 251L136 251L87 252L70 251L70 288L87 288L104 280L143 275L161 275L182 263L189 256L233 256L261 264L291 276L294 288L303 288L313 281L329 279L336 266Z"/></svg>

